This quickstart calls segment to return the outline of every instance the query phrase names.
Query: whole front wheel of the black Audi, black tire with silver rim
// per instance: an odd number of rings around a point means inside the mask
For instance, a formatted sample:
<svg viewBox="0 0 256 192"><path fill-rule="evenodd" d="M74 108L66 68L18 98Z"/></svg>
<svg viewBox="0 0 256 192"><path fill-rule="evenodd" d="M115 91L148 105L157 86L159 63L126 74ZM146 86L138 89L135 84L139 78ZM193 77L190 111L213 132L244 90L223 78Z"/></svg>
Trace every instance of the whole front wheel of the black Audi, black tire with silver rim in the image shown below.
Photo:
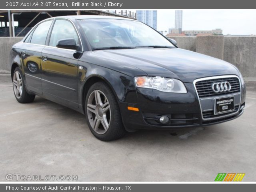
<svg viewBox="0 0 256 192"><path fill-rule="evenodd" d="M92 134L102 141L122 138L126 130L112 90L105 82L93 84L86 95L85 113Z"/></svg>

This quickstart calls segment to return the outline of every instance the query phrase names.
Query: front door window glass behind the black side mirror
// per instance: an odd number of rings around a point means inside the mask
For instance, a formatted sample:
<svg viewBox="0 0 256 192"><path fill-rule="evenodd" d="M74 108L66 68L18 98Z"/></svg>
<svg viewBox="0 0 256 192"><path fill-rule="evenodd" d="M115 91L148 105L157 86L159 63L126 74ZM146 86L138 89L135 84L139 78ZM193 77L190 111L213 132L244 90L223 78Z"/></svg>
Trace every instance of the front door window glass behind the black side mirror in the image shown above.
<svg viewBox="0 0 256 192"><path fill-rule="evenodd" d="M56 47L58 40L74 39L78 44L78 35L72 23L67 20L56 20L52 28L49 46Z"/></svg>

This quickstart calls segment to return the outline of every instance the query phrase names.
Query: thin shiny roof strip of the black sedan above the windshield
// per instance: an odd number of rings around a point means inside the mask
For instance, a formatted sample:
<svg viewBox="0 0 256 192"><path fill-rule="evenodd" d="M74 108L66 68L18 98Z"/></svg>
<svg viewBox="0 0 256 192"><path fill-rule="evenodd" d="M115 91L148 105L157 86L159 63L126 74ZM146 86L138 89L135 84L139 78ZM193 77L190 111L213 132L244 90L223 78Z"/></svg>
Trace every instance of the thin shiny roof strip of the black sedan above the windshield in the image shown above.
<svg viewBox="0 0 256 192"><path fill-rule="evenodd" d="M66 18L70 20L81 20L81 19L121 19L121 20L134 20L130 18L117 17L117 16L101 16L101 15L68 15L58 16L52 18Z"/></svg>

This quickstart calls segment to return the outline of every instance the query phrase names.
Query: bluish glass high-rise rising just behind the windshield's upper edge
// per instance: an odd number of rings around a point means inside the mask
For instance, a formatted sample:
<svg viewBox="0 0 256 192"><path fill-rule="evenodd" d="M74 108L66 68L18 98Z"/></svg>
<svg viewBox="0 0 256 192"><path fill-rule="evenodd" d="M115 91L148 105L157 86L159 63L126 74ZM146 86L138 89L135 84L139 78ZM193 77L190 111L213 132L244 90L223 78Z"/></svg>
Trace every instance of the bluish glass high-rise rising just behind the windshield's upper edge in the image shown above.
<svg viewBox="0 0 256 192"><path fill-rule="evenodd" d="M157 11L156 10L136 10L136 18L156 30Z"/></svg>

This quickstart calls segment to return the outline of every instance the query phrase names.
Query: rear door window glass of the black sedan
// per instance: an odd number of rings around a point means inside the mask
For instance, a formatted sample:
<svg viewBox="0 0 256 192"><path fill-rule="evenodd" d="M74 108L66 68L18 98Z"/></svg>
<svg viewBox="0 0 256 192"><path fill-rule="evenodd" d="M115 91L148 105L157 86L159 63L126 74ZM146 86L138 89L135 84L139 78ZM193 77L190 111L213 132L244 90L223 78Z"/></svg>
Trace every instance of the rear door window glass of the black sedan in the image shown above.
<svg viewBox="0 0 256 192"><path fill-rule="evenodd" d="M52 20L39 24L32 34L30 43L44 45Z"/></svg>

